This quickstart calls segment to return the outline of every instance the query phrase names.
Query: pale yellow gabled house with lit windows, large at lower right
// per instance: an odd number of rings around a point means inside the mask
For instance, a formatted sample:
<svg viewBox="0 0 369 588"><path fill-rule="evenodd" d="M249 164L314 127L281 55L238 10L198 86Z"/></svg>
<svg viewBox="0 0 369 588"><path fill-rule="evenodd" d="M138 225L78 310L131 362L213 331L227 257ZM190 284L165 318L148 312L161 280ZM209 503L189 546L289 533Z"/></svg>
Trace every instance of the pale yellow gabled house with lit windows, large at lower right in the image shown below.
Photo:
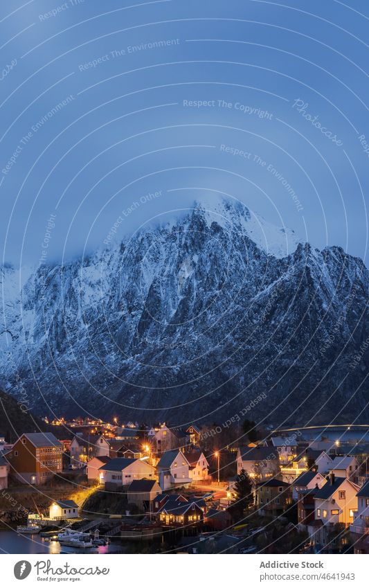
<svg viewBox="0 0 369 588"><path fill-rule="evenodd" d="M347 478L330 474L329 481L314 496L315 521L307 526L312 540L324 544L332 526L341 523L347 527L353 522L358 490L359 486Z"/></svg>

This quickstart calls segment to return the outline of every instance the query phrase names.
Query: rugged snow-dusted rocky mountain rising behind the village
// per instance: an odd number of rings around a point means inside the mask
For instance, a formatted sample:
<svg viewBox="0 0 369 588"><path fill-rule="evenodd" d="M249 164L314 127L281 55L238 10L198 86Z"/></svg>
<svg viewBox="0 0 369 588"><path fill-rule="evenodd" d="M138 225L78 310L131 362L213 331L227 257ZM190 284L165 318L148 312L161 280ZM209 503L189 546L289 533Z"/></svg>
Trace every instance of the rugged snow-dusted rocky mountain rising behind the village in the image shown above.
<svg viewBox="0 0 369 588"><path fill-rule="evenodd" d="M33 411L368 420L366 267L239 202L201 202L83 262L4 266L1 279L0 386Z"/></svg>

